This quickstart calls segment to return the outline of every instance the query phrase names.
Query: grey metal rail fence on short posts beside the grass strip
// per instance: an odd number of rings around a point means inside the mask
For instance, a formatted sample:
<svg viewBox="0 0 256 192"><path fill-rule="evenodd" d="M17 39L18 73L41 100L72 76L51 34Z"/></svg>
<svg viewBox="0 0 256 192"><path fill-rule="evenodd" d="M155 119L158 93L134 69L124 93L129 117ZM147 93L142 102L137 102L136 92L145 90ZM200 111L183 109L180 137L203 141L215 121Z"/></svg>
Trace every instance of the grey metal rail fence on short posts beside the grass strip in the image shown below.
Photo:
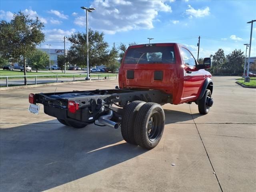
<svg viewBox="0 0 256 192"><path fill-rule="evenodd" d="M38 81L42 78L45 77L45 79L50 79L50 78L56 78L56 80L53 80L54 82L63 82L60 80L60 78L67 78L71 77L72 80L65 80L65 81L76 81L76 80L86 80L87 75L86 74L50 74L50 75L26 75L27 81L31 79L31 77L34 77L34 83L30 84L38 84ZM17 78L17 77L23 77L23 78ZM6 79L6 87L10 85L11 80L22 80L24 79L25 75L18 75L18 76L0 76L0 79L2 80L3 78ZM82 79L84 78L84 79ZM110 79L110 78L118 78L118 74L90 74L90 79L91 80L100 80L100 79ZM49 82L46 82L49 83ZM22 85L22 84L20 84Z"/></svg>

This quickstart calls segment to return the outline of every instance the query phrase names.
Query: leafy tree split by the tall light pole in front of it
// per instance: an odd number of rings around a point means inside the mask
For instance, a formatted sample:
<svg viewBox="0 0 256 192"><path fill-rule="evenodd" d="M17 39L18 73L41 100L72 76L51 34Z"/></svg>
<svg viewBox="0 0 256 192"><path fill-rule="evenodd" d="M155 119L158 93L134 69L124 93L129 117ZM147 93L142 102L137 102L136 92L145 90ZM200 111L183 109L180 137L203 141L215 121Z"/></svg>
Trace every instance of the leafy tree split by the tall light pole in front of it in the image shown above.
<svg viewBox="0 0 256 192"><path fill-rule="evenodd" d="M87 57L86 33L76 32L68 37L68 40L71 42L68 61L76 66L84 66ZM88 40L90 66L106 64L108 43L104 41L104 33L89 29Z"/></svg>

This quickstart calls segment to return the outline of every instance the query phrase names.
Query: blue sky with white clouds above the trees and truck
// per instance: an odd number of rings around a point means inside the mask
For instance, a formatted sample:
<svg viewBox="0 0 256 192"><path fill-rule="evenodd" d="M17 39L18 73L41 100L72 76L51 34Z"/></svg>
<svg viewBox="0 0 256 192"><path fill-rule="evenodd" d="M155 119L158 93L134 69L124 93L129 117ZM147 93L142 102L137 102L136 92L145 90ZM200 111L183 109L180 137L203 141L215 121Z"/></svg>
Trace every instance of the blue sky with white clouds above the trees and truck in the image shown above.
<svg viewBox="0 0 256 192"><path fill-rule="evenodd" d="M120 42L128 45L177 42L187 46L197 58L209 57L219 48L227 55L235 49L245 52L250 43L251 24L256 19L255 0L1 0L0 19L10 21L19 11L44 22L45 42L41 48L63 49L64 36L86 32L85 12L92 30L104 32L109 48ZM252 30L251 57L256 56L256 22ZM66 47L70 42L66 42ZM247 52L248 55L248 52Z"/></svg>

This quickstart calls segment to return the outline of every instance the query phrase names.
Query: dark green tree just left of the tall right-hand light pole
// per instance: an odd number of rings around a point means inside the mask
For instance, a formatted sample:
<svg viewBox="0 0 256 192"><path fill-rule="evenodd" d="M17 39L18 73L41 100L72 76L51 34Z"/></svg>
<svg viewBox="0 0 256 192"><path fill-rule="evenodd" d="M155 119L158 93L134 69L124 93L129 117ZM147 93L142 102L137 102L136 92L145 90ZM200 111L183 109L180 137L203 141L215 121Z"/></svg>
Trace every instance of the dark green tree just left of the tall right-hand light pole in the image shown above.
<svg viewBox="0 0 256 192"><path fill-rule="evenodd" d="M244 52L242 52L240 49L235 49L234 51L232 51L232 53L228 54L226 58L226 68L234 70L234 73L243 71Z"/></svg>

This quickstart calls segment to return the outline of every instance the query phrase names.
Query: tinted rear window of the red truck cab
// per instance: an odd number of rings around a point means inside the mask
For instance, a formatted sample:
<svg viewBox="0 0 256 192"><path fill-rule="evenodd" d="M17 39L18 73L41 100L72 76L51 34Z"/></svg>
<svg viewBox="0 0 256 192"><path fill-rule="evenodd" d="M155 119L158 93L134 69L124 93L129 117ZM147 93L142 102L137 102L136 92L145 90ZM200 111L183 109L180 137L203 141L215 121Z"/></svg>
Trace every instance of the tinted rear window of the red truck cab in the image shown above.
<svg viewBox="0 0 256 192"><path fill-rule="evenodd" d="M173 46L144 46L129 48L124 64L174 64L176 63Z"/></svg>

